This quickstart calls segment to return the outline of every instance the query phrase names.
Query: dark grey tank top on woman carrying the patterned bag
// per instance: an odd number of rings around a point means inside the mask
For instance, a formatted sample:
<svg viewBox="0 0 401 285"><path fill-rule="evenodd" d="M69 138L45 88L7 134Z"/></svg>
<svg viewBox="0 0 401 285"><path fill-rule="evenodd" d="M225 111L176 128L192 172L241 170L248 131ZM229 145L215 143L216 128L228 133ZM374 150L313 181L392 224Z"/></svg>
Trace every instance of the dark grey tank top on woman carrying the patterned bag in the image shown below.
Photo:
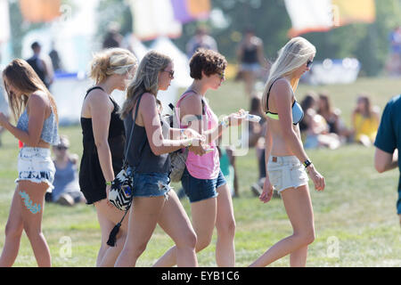
<svg viewBox="0 0 401 285"><path fill-rule="evenodd" d="M139 97L137 105L139 105ZM136 108L135 110L137 110ZM168 153L161 155L155 155L151 151L151 145L148 142L146 129L143 126L138 126L135 124L132 118L132 112L124 119L124 126L126 127L126 147L127 151L127 163L130 167L135 167L136 173L170 173L170 158ZM136 116L135 116L136 118ZM168 131L168 123L160 117L160 123L163 129L163 136L166 137ZM132 134L131 143L129 143L129 135L131 134L132 127L134 125L134 130ZM128 145L129 143L129 145ZM127 149L128 148L128 149Z"/></svg>

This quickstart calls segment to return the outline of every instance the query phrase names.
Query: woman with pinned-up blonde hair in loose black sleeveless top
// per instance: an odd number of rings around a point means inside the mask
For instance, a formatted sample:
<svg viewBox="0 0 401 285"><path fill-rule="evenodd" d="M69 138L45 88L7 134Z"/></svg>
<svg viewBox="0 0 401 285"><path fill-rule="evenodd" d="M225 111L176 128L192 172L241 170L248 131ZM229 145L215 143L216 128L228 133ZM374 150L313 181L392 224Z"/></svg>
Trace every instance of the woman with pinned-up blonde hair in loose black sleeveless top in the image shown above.
<svg viewBox="0 0 401 285"><path fill-rule="evenodd" d="M113 90L125 90L134 77L137 61L124 49L110 49L94 55L91 77L95 86L86 92L81 111L84 152L79 168L79 185L87 204L94 204L102 231L97 266L112 266L124 244L127 221L121 225L116 246L106 242L110 231L124 215L110 205L110 182L122 167L125 144L124 122L119 105L110 97Z"/></svg>

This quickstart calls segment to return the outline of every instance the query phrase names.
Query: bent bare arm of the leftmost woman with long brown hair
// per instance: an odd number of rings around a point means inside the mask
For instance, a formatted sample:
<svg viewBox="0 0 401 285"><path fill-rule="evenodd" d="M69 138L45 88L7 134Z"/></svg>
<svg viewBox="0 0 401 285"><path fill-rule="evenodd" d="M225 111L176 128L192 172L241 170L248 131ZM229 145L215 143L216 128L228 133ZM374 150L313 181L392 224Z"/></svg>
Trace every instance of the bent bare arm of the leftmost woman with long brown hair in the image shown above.
<svg viewBox="0 0 401 285"><path fill-rule="evenodd" d="M45 100L37 94L31 94L29 96L27 108L29 110L28 132L22 131L16 126L12 126L3 113L0 114L0 125L21 142L28 146L36 147L40 142L40 134L42 134L43 123L45 121Z"/></svg>

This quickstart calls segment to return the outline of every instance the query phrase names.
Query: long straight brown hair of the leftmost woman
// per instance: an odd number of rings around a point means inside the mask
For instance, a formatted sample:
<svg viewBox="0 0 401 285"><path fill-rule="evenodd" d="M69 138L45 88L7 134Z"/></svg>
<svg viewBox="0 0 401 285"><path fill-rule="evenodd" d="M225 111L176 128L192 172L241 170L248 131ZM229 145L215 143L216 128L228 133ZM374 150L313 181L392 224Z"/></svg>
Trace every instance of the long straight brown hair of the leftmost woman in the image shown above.
<svg viewBox="0 0 401 285"><path fill-rule="evenodd" d="M21 96L13 94L6 82L11 84L14 88L17 88L22 93ZM15 59L11 61L3 70L3 81L4 81L4 89L8 95L8 102L10 104L10 109L12 110L12 115L15 118L15 121L20 118L22 111L26 108L29 94L33 94L36 91L42 91L47 95L47 98L52 105L54 115L59 121L59 116L57 113L57 106L54 101L53 95L47 89L43 81L40 77L37 76L37 73L34 69L31 68L27 61L21 59Z"/></svg>

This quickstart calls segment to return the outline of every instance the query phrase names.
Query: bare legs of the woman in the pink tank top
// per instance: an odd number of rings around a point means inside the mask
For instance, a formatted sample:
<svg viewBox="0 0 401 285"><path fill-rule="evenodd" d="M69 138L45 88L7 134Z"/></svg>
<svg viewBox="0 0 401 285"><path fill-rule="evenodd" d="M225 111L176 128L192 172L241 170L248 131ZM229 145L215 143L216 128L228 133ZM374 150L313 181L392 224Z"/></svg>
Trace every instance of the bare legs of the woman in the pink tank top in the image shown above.
<svg viewBox="0 0 401 285"><path fill-rule="evenodd" d="M213 229L217 228L216 261L218 266L234 266L233 201L227 185L217 188L217 198L204 199L191 204L192 225L197 235L195 250L201 251L209 246ZM154 266L173 266L177 263L177 248L168 249Z"/></svg>

